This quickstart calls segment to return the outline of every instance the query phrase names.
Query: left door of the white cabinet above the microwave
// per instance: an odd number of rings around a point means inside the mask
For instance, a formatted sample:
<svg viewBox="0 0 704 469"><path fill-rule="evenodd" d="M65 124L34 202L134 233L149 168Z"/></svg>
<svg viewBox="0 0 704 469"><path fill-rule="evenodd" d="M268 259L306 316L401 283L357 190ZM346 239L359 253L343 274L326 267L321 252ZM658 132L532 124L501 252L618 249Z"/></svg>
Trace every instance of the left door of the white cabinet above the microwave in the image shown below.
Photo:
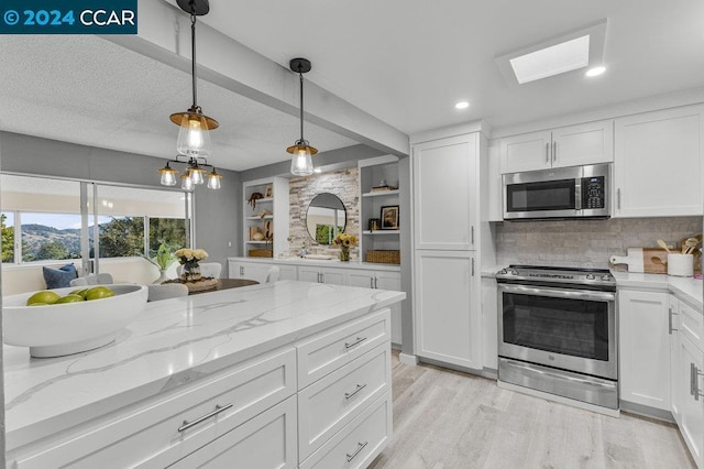
<svg viewBox="0 0 704 469"><path fill-rule="evenodd" d="M551 167L551 145L552 137L549 130L502 139L499 143L502 173Z"/></svg>

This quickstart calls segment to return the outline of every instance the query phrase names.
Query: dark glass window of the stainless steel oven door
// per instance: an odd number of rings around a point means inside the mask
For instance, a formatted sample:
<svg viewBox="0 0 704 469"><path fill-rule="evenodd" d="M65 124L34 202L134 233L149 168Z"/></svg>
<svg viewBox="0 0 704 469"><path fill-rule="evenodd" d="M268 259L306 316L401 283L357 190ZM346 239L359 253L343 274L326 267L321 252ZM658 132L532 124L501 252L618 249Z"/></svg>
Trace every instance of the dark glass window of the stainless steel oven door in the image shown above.
<svg viewBox="0 0 704 469"><path fill-rule="evenodd" d="M608 361L608 303L504 295L504 342Z"/></svg>

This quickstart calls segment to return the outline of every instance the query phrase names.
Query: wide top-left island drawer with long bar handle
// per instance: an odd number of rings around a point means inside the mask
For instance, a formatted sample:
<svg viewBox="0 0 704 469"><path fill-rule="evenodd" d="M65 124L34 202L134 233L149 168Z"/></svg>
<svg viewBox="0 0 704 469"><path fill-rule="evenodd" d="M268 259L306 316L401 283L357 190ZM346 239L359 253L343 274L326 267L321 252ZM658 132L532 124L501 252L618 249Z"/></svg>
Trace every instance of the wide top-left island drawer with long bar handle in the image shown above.
<svg viewBox="0 0 704 469"><path fill-rule="evenodd" d="M293 395L295 370L294 348L251 360L84 425L48 441L51 449L22 455L16 468L163 468Z"/></svg>

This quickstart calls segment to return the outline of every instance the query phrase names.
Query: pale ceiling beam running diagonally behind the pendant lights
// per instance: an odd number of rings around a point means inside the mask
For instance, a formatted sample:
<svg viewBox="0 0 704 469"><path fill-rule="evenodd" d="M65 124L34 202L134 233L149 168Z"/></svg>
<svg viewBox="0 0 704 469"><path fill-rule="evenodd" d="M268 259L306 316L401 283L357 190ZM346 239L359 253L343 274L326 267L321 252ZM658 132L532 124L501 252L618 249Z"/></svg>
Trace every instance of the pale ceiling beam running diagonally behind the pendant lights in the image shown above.
<svg viewBox="0 0 704 469"><path fill-rule="evenodd" d="M103 39L190 73L190 18L166 1L139 0L139 34ZM199 22L198 78L290 116L299 114L298 75ZM316 64L314 64L316 66ZM409 154L408 135L306 80L305 119L397 156Z"/></svg>

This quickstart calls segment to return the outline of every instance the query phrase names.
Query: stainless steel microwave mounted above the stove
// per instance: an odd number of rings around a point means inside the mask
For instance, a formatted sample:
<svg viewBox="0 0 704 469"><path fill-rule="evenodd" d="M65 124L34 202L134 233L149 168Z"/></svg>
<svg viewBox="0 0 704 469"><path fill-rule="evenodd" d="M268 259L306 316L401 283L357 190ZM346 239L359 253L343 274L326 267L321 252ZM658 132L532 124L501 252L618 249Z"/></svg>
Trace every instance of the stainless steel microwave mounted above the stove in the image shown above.
<svg viewBox="0 0 704 469"><path fill-rule="evenodd" d="M608 163L504 174L505 220L609 218Z"/></svg>

